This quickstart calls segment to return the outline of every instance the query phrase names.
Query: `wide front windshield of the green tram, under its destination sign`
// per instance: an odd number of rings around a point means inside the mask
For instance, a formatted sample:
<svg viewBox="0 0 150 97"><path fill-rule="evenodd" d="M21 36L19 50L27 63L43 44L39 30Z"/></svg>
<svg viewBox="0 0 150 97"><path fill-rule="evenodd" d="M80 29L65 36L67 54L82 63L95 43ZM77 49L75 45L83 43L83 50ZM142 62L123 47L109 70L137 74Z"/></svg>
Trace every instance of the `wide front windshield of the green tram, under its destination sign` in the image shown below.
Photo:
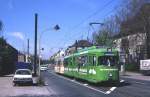
<svg viewBox="0 0 150 97"><path fill-rule="evenodd" d="M105 65L105 66L115 66L115 65L117 65L117 57L115 57L115 56L98 57L98 64Z"/></svg>

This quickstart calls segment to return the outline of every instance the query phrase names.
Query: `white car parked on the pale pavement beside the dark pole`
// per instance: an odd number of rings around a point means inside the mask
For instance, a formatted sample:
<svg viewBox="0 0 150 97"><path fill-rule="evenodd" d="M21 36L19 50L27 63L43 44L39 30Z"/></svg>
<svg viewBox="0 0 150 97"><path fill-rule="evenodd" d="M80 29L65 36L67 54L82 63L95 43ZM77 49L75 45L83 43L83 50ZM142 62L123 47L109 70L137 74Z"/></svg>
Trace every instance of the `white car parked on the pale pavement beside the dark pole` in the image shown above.
<svg viewBox="0 0 150 97"><path fill-rule="evenodd" d="M32 72L29 69L18 69L15 72L13 77L13 83L21 84L21 83L30 83L33 84Z"/></svg>

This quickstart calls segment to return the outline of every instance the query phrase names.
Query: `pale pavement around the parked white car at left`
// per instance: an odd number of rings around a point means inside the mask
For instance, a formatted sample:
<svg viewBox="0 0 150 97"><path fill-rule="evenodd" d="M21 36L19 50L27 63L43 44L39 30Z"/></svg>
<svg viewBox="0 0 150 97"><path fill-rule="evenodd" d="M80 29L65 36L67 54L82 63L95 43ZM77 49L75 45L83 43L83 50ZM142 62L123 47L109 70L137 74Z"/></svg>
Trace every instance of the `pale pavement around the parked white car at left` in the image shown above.
<svg viewBox="0 0 150 97"><path fill-rule="evenodd" d="M34 77L33 80L37 80ZM0 77L0 97L43 97L53 95L53 91L49 91L45 86L36 85L18 85L13 86L13 75L6 75Z"/></svg>

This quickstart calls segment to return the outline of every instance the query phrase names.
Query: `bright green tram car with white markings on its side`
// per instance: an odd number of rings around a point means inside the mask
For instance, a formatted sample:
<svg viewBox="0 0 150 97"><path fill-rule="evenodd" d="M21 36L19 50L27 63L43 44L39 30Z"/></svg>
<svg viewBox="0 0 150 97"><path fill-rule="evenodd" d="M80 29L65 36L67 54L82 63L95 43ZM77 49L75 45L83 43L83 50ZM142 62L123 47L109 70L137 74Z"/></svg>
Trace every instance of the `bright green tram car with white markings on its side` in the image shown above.
<svg viewBox="0 0 150 97"><path fill-rule="evenodd" d="M119 81L118 51L89 47L64 58L64 75L92 83Z"/></svg>

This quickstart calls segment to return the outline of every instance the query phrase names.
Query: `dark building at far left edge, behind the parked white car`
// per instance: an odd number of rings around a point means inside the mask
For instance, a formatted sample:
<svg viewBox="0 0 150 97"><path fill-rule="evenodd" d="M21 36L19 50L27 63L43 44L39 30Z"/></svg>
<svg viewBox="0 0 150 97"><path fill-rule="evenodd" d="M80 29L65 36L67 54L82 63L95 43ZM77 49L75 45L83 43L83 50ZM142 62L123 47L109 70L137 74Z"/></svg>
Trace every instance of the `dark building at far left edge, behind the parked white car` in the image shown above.
<svg viewBox="0 0 150 97"><path fill-rule="evenodd" d="M8 44L3 38L0 39L0 74L13 73L18 61L18 51Z"/></svg>

